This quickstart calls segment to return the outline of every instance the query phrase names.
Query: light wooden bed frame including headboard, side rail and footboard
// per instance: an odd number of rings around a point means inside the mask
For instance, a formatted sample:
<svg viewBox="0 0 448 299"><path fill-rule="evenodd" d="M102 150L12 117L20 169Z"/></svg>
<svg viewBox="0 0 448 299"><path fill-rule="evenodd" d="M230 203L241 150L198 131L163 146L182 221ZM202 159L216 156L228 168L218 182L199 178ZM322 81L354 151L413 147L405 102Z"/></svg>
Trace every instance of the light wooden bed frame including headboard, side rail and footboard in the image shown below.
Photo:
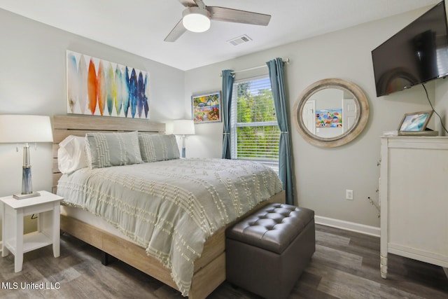
<svg viewBox="0 0 448 299"><path fill-rule="evenodd" d="M136 130L165 134L164 123L153 123L149 120L133 118L54 116L52 120L54 139L53 193L56 193L57 181L62 175L57 167L57 149L59 148L59 142L64 140L65 137L69 135L85 136L87 132L130 132ZM258 204L248 214L269 202L284 203L284 191L272 196L266 202ZM178 290L171 277L170 270L156 258L148 256L143 247L69 216L61 215L61 230ZM188 298L206 298L223 281L225 281L225 228L218 230L205 242L202 256L195 261L193 281Z"/></svg>

